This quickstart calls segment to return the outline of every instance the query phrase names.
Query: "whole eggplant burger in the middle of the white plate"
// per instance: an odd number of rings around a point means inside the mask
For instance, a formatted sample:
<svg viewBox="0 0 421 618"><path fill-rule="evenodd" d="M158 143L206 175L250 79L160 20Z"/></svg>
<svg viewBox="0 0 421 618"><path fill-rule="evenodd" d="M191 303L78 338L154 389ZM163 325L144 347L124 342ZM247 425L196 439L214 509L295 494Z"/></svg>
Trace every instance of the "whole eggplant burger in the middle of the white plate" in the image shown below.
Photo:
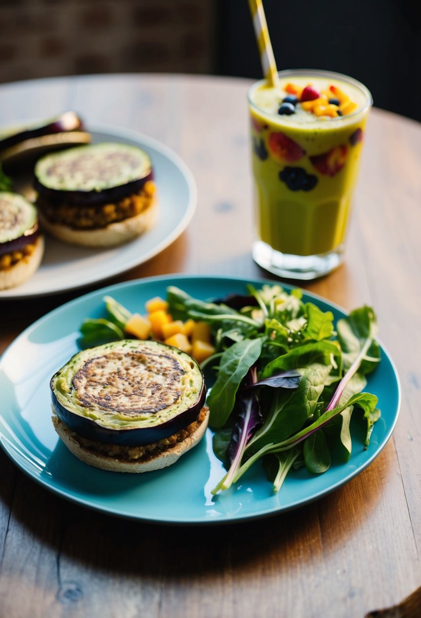
<svg viewBox="0 0 421 618"><path fill-rule="evenodd" d="M123 143L98 143L50 153L35 165L36 205L43 226L64 242L112 247L156 221L149 156Z"/></svg>

